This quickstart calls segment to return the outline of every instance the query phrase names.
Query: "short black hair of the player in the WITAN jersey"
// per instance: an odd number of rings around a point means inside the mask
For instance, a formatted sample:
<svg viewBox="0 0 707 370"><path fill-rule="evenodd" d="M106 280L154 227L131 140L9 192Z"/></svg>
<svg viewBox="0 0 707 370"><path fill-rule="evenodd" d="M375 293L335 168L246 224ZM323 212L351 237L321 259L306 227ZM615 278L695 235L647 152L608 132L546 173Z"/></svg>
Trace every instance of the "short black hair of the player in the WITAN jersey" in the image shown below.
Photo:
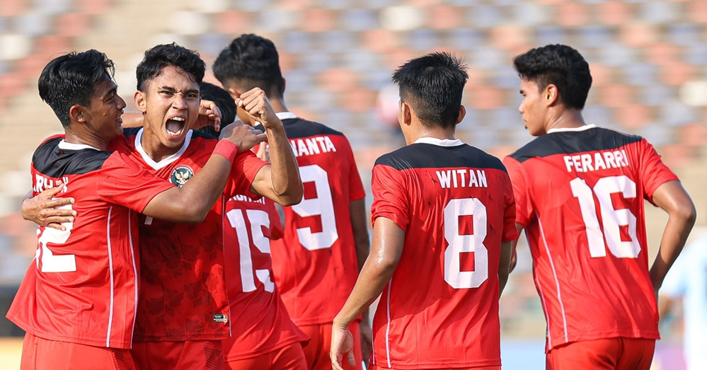
<svg viewBox="0 0 707 370"><path fill-rule="evenodd" d="M408 60L393 73L400 99L410 103L424 125L454 127L461 109L466 65L447 52Z"/></svg>

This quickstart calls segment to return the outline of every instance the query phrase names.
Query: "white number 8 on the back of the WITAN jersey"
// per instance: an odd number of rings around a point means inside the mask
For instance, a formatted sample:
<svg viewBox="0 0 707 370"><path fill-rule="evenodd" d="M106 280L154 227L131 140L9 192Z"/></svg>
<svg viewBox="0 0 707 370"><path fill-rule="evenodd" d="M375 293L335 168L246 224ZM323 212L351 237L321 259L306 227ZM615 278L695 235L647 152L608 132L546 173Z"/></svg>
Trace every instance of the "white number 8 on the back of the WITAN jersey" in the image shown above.
<svg viewBox="0 0 707 370"><path fill-rule="evenodd" d="M472 216L471 235L459 235L459 217ZM453 199L444 207L444 281L454 289L478 288L488 279L486 207L476 198ZM473 271L461 271L461 253L473 252Z"/></svg>

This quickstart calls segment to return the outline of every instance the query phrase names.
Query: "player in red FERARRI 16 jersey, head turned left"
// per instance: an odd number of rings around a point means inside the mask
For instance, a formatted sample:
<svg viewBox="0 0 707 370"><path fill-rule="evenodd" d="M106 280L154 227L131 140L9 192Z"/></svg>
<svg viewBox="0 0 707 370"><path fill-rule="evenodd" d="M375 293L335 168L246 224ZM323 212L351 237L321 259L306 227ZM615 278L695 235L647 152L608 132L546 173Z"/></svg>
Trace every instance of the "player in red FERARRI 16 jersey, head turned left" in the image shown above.
<svg viewBox="0 0 707 370"><path fill-rule="evenodd" d="M692 229L694 204L642 137L587 125L589 64L566 45L513 60L519 112L538 138L505 158L548 321L548 369L648 369L656 294ZM648 270L643 199L667 212Z"/></svg>

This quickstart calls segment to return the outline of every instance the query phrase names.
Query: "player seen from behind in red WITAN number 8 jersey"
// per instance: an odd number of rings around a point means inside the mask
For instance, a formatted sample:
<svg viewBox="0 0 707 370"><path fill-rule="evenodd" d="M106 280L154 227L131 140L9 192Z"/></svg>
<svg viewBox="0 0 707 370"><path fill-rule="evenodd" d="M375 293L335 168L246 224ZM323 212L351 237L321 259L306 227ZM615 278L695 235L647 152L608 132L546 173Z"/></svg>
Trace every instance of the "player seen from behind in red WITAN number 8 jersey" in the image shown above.
<svg viewBox="0 0 707 370"><path fill-rule="evenodd" d="M515 205L501 161L454 137L467 79L446 53L393 74L407 146L373 168L371 255L333 321L334 369L352 364L347 326L379 294L371 369L500 369Z"/></svg>

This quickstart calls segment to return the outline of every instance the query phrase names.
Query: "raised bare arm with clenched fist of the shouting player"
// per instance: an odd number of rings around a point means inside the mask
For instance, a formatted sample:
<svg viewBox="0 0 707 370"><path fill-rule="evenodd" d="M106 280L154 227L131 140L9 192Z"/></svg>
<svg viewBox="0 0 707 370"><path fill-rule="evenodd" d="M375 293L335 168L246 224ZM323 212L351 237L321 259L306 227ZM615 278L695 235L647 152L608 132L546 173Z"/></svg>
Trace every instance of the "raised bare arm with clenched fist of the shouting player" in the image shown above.
<svg viewBox="0 0 707 370"><path fill-rule="evenodd" d="M282 121L272 110L265 92L260 88L253 88L236 98L236 104L253 121L262 123L268 136L271 164L263 166L255 175L253 192L284 206L299 203L304 188L299 178L297 159L292 153L292 146L289 146Z"/></svg>

